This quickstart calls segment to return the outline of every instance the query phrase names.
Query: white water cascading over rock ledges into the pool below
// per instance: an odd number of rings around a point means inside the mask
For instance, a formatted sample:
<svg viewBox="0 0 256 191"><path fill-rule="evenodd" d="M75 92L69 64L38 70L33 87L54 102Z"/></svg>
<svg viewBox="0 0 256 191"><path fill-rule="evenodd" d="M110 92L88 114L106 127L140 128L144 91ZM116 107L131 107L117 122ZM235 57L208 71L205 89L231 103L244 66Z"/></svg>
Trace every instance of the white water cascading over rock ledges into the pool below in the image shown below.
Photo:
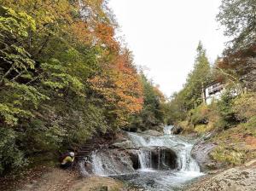
<svg viewBox="0 0 256 191"><path fill-rule="evenodd" d="M172 126L165 127L164 132L164 136L128 133L137 148L137 169L132 168L131 161L125 160L125 154L117 157L113 153L95 152L91 156L94 173L117 177L148 191L182 190L188 182L202 176L199 166L190 155L193 142L172 135Z"/></svg>

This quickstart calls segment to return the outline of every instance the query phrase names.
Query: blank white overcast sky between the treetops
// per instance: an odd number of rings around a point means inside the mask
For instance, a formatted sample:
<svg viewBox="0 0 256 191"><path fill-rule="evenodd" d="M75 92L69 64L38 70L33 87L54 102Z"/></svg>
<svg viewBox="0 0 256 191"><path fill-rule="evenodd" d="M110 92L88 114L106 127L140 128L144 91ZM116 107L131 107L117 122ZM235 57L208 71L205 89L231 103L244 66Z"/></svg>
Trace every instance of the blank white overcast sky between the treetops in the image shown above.
<svg viewBox="0 0 256 191"><path fill-rule="evenodd" d="M227 41L215 20L221 0L110 0L120 35L166 96L181 90L201 40L213 62Z"/></svg>

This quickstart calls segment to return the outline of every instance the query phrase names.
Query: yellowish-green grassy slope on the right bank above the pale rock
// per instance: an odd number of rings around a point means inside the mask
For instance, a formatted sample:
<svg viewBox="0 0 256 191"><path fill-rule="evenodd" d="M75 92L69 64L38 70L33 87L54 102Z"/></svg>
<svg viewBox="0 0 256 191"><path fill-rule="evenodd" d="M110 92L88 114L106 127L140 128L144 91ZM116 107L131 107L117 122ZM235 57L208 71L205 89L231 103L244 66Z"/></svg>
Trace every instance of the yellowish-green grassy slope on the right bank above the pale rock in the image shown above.
<svg viewBox="0 0 256 191"><path fill-rule="evenodd" d="M229 165L241 165L256 157L256 118L234 128L222 130L211 142L218 147L210 153L212 159Z"/></svg>

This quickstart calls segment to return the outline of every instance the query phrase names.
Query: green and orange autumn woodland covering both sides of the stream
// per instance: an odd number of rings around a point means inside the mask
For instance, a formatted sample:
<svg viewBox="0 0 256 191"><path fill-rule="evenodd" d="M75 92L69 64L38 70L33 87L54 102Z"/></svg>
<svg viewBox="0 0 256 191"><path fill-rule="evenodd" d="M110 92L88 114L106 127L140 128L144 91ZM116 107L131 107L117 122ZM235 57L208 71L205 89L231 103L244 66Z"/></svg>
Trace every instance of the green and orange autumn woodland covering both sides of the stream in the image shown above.
<svg viewBox="0 0 256 191"><path fill-rule="evenodd" d="M0 175L94 136L166 124L183 135L213 133L217 161L255 158L256 2L223 0L217 20L231 39L223 55L210 64L200 42L183 89L167 98L116 38L108 1L0 0ZM212 82L224 94L207 104Z"/></svg>

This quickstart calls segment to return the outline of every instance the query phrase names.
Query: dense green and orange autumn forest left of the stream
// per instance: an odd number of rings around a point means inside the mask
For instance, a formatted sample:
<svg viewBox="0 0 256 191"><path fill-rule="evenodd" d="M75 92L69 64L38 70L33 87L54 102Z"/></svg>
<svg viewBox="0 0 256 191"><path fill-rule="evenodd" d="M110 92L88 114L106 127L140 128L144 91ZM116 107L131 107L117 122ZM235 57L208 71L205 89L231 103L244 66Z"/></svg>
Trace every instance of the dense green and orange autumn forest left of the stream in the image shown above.
<svg viewBox="0 0 256 191"><path fill-rule="evenodd" d="M86 3L86 4L85 4ZM1 1L0 172L95 134L163 123L160 90L105 1Z"/></svg>

